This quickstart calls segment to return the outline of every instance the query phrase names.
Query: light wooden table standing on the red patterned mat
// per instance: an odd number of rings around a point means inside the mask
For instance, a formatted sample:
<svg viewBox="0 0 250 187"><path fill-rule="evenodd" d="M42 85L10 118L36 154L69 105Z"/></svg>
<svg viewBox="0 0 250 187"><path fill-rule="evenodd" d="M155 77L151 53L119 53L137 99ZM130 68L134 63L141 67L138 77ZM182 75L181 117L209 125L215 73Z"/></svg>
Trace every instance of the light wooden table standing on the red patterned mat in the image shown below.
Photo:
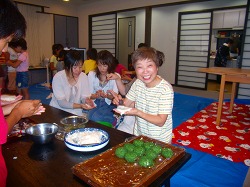
<svg viewBox="0 0 250 187"><path fill-rule="evenodd" d="M225 83L226 82L233 83L231 98L230 98L230 108L229 108L229 112L232 113L234 98L236 94L236 84L237 83L250 84L250 69L211 67L211 68L200 68L198 69L198 71L221 75L219 104L218 104L218 112L216 119L216 124L219 125L221 120L222 105L224 100Z"/></svg>

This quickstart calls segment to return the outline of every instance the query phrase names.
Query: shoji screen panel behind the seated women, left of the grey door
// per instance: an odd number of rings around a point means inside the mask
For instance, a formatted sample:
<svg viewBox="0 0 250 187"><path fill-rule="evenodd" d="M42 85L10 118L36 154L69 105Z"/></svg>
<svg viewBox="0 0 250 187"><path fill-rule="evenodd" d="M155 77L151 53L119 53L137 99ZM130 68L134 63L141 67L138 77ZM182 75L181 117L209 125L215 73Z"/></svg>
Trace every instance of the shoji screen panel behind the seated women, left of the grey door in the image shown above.
<svg viewBox="0 0 250 187"><path fill-rule="evenodd" d="M116 14L93 16L90 18L91 44L97 51L108 50L115 56Z"/></svg>

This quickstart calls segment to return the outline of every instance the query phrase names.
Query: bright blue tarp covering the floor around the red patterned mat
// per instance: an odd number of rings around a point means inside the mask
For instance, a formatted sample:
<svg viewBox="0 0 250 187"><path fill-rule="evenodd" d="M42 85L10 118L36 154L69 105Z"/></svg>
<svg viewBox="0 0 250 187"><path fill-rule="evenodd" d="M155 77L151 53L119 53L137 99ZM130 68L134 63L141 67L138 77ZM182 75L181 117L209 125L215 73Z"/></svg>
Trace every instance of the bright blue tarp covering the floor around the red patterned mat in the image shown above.
<svg viewBox="0 0 250 187"><path fill-rule="evenodd" d="M43 104L49 104L46 97L51 90L41 84L29 88L31 99L40 99ZM173 128L191 118L195 113L216 100L190 96L180 93L174 94ZM227 100L228 101L228 100ZM236 103L250 104L250 100L236 99ZM177 146L177 145L175 145ZM192 155L191 159L171 178L174 187L241 187L248 167L243 163L235 163L213 155L185 147Z"/></svg>

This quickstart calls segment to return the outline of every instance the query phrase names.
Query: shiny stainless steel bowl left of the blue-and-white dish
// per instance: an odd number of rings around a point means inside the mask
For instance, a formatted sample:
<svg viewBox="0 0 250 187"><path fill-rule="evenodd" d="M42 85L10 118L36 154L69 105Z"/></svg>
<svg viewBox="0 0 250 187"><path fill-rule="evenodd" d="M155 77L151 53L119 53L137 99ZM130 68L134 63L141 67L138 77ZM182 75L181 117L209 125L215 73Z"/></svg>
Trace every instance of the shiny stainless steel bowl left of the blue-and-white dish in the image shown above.
<svg viewBox="0 0 250 187"><path fill-rule="evenodd" d="M53 123L39 123L25 130L34 143L46 144L51 142L58 131L58 126Z"/></svg>

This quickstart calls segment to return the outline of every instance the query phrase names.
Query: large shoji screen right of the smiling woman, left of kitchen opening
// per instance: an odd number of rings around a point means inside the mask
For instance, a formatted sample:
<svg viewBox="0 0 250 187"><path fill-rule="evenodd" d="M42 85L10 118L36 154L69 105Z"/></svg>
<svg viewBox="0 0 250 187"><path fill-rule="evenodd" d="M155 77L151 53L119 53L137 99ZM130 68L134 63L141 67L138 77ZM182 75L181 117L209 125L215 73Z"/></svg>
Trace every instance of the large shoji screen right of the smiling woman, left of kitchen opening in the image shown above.
<svg viewBox="0 0 250 187"><path fill-rule="evenodd" d="M208 64L210 25L211 12L179 14L176 85L206 88L206 74L197 69Z"/></svg>

